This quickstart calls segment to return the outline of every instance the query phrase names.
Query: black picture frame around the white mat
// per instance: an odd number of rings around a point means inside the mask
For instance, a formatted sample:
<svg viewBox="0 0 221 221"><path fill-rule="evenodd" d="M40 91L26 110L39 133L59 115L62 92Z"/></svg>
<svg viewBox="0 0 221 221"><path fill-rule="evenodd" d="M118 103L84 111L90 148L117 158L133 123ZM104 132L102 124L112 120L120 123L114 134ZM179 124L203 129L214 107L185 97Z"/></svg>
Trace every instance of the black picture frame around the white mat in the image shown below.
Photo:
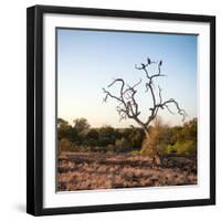
<svg viewBox="0 0 221 221"><path fill-rule="evenodd" d="M210 25L210 198L196 200L43 208L43 15L84 14ZM141 11L34 6L27 10L27 212L33 215L105 212L215 204L215 17Z"/></svg>

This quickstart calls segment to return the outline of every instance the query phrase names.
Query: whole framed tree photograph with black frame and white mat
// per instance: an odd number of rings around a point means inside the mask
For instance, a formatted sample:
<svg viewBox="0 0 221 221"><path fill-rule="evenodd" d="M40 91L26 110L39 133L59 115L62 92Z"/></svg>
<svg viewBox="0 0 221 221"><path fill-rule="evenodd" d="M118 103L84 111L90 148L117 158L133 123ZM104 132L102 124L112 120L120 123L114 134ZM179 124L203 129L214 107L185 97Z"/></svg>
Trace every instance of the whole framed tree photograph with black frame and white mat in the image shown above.
<svg viewBox="0 0 221 221"><path fill-rule="evenodd" d="M27 212L215 203L215 18L28 8Z"/></svg>

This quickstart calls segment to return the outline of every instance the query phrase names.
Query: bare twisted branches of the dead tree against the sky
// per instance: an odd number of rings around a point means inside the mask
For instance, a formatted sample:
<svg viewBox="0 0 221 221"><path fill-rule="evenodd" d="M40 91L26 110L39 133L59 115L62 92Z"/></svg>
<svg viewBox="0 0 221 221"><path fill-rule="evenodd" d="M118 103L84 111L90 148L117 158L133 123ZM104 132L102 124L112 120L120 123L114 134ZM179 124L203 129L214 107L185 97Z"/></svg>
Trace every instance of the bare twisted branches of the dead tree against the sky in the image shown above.
<svg viewBox="0 0 221 221"><path fill-rule="evenodd" d="M157 73L151 74L149 71L150 65L157 65ZM135 69L138 71L143 71L145 74L145 87L146 93L150 94L152 105L149 108L150 114L147 116L146 120L141 120L139 115L139 105L136 99L137 86L141 83L141 78L134 84L133 86L125 83L123 78L115 78L107 87L110 88L115 84L119 84L119 93L115 95L110 93L108 90L103 88L105 93L104 102L107 102L107 98L110 97L115 99L118 104L116 109L119 115L119 119L130 118L134 119L145 131L148 137L148 127L150 123L156 118L158 112L160 109L167 109L170 114L175 114L170 106L173 105L177 114L182 116L182 120L185 120L187 114L185 109L181 109L178 102L175 98L169 98L167 101L162 99L161 92L162 90L158 85L158 88L155 90L154 82L157 77L165 76L161 74L162 61L156 62L151 61L149 57L146 63L141 63L140 66L135 65Z"/></svg>

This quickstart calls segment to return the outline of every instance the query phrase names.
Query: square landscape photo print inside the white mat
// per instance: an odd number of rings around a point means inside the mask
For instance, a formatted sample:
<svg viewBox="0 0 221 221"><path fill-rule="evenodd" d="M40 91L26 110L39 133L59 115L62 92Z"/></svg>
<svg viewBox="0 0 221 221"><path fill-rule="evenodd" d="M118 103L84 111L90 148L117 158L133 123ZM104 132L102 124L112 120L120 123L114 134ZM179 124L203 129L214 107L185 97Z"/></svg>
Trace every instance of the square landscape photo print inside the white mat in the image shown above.
<svg viewBox="0 0 221 221"><path fill-rule="evenodd" d="M197 34L56 28L56 191L198 185Z"/></svg>

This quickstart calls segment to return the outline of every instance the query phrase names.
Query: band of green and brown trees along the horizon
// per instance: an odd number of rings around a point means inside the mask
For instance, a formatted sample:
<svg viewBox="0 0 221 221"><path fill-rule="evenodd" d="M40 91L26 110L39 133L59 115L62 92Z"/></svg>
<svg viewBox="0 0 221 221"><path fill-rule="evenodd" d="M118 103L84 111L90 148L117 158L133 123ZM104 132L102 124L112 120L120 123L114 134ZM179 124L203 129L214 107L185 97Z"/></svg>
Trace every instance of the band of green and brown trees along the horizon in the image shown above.
<svg viewBox="0 0 221 221"><path fill-rule="evenodd" d="M141 128L114 128L103 126L92 128L85 118L73 122L57 119L59 150L61 151L101 151L147 154L151 148L158 154L197 154L197 119L183 126L168 127L155 124L149 127L149 138L146 139ZM145 147L144 146L145 140ZM154 146L154 147L152 147Z"/></svg>

